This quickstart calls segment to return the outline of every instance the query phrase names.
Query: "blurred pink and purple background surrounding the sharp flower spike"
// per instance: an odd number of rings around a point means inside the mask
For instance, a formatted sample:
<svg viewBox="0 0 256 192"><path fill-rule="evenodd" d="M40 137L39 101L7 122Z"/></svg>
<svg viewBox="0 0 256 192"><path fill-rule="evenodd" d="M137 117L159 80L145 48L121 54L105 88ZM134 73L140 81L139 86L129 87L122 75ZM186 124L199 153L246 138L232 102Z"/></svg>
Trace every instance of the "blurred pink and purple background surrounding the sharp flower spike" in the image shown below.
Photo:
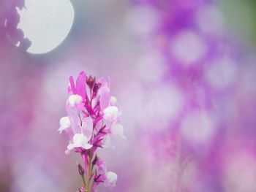
<svg viewBox="0 0 256 192"><path fill-rule="evenodd" d="M99 191L256 191L255 3L70 2L0 3L0 191L78 189L57 129L83 70L110 77L127 137L99 151L118 174Z"/></svg>

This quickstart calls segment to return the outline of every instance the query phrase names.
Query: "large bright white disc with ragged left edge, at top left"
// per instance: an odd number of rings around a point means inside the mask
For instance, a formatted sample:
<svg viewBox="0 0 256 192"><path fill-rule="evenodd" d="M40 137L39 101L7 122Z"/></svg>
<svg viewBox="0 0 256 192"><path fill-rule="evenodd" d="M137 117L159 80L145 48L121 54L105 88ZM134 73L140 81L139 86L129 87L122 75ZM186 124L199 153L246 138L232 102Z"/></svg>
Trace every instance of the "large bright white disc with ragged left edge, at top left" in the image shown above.
<svg viewBox="0 0 256 192"><path fill-rule="evenodd" d="M18 10L20 28L31 41L29 53L48 53L67 37L74 20L69 0L26 0Z"/></svg>

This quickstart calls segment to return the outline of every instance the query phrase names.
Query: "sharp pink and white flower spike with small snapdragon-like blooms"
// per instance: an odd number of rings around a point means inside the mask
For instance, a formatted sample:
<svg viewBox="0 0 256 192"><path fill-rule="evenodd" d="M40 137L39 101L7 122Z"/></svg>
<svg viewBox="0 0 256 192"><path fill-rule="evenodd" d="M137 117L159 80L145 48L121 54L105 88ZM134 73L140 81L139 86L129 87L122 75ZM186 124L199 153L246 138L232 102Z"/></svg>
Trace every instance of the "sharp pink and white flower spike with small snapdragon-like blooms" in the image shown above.
<svg viewBox="0 0 256 192"><path fill-rule="evenodd" d="M69 136L66 153L75 150L83 158L84 168L78 164L83 186L78 191L96 191L99 183L115 186L117 174L108 172L105 161L96 154L109 142L110 134L125 138L119 123L121 109L110 95L110 83L104 78L88 77L85 72L80 72L76 81L71 76L69 82L67 116L61 118L59 131Z"/></svg>

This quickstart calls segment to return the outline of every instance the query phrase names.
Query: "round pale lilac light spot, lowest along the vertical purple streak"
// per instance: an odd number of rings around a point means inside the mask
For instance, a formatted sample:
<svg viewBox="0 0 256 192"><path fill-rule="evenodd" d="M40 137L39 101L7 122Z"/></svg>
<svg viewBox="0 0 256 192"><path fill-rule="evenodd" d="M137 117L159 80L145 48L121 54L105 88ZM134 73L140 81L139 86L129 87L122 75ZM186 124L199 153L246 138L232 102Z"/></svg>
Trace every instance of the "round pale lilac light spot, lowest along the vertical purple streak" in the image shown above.
<svg viewBox="0 0 256 192"><path fill-rule="evenodd" d="M181 134L189 142L209 142L215 129L214 120L206 111L192 112L181 123Z"/></svg>

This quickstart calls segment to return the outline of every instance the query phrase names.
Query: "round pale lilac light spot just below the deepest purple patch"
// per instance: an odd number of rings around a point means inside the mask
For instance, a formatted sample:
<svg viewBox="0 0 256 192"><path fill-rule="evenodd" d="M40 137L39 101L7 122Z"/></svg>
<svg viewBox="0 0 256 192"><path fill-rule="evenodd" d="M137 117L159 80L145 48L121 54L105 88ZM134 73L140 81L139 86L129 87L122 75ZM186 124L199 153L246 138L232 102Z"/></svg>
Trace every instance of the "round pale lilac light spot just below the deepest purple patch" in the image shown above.
<svg viewBox="0 0 256 192"><path fill-rule="evenodd" d="M206 54L206 43L203 38L193 31L182 31L170 46L170 53L181 64L191 65Z"/></svg>

